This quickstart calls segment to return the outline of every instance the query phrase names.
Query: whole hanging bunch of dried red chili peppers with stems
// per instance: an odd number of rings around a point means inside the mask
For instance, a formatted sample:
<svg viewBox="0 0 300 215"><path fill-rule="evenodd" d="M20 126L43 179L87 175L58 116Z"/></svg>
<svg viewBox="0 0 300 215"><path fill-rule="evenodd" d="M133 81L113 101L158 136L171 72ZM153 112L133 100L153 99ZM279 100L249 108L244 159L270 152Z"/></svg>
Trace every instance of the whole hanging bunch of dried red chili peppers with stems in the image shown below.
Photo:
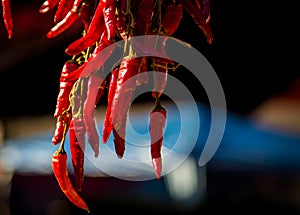
<svg viewBox="0 0 300 215"><path fill-rule="evenodd" d="M3 18L12 36L10 0L2 0ZM117 41L129 41L141 35L172 36L178 28L183 10L193 18L204 33L207 42L213 40L210 28L209 0L46 0L40 13L56 9L54 26L47 33L54 38L78 21L83 25L82 36L69 44L65 52L70 59L63 65L59 94L54 117L54 145L59 145L52 157L52 167L58 184L65 196L79 208L90 211L79 195L84 179L84 152L87 142L95 157L99 155L99 134L95 123L97 103L108 89L107 109L103 122L102 142L113 135L115 152L122 158L125 151L126 120L131 98L136 86L148 83L145 75L148 67L154 71L152 96L155 105L150 112L150 147L152 164L159 179L162 171L161 148L167 112L160 103L160 96L167 83L169 69L176 69L174 62L162 57L136 57L136 46L124 49L120 64L111 68L107 78L101 71ZM148 41L149 42L149 41ZM135 47L134 47L135 46ZM148 44L149 46L149 44ZM112 47L106 50L107 47ZM99 53L101 59L93 61ZM163 47L160 50L163 52ZM101 69L102 68L102 69ZM144 75L142 75L144 74ZM125 84L126 83L126 84ZM75 186L68 176L65 136L69 134Z"/></svg>

